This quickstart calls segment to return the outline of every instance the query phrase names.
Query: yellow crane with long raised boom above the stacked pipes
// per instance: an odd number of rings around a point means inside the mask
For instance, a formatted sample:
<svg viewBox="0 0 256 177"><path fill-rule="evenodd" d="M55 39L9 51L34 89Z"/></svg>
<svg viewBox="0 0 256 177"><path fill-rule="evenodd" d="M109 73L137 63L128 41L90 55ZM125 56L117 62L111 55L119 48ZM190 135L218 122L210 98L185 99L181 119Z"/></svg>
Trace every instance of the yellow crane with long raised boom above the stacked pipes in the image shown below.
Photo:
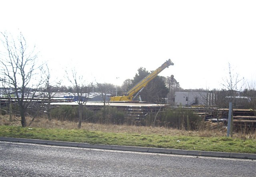
<svg viewBox="0 0 256 177"><path fill-rule="evenodd" d="M112 97L110 97L110 101L132 101L133 95L135 93L137 93L137 92L139 93L140 91L142 91L143 88L146 87L146 85L150 81L152 81L152 79L154 79L161 71L163 71L165 68L168 68L170 65L174 65L174 63L172 63L171 59L167 60L158 69L156 69L152 73L148 74L138 84L136 84L134 87L132 87L130 90L128 90L128 92L126 92L124 94L124 96L112 96ZM136 98L136 96L134 98Z"/></svg>

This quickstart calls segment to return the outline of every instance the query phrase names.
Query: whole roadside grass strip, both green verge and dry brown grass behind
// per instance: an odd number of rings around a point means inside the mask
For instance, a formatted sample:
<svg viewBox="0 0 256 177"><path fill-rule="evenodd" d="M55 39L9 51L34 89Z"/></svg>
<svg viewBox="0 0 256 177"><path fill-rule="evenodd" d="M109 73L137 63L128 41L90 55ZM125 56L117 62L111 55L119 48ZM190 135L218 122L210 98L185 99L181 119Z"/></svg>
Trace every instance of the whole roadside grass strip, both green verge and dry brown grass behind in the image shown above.
<svg viewBox="0 0 256 177"><path fill-rule="evenodd" d="M29 119L28 119L29 120ZM74 122L36 119L30 127L20 127L19 121L0 118L0 136L31 138L89 144L140 146L236 153L256 153L255 135L234 134L218 130L185 131L161 127L117 126L83 123L76 129Z"/></svg>

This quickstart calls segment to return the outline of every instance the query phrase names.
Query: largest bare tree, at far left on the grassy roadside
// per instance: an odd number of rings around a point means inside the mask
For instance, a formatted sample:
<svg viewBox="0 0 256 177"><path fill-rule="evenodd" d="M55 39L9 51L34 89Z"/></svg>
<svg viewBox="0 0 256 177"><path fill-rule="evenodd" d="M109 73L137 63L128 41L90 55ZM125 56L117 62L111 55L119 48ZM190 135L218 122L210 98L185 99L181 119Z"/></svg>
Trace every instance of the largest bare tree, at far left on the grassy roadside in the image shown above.
<svg viewBox="0 0 256 177"><path fill-rule="evenodd" d="M22 33L16 39L7 33L0 34L4 47L0 59L0 80L14 89L13 99L19 106L20 122L22 127L26 127L26 109L35 96L35 90L42 84L41 77L35 78L42 65L38 66L35 46L30 50Z"/></svg>

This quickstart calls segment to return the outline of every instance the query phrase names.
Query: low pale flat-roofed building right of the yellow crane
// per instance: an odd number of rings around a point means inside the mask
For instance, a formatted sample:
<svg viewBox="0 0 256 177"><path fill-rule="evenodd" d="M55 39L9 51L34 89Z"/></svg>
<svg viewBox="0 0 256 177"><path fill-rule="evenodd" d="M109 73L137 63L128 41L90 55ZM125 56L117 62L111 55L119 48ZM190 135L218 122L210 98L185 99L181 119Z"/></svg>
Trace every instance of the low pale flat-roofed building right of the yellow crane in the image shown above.
<svg viewBox="0 0 256 177"><path fill-rule="evenodd" d="M216 96L212 92L175 92L174 98L176 106L212 106Z"/></svg>

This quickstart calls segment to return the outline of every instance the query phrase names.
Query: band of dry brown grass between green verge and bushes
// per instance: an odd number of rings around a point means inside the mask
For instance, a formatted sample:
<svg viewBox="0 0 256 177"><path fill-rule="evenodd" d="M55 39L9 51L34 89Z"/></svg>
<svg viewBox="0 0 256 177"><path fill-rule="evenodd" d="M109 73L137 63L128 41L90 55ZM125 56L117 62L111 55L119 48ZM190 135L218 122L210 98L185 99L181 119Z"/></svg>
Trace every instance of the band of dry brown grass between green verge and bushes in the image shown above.
<svg viewBox="0 0 256 177"><path fill-rule="evenodd" d="M27 123L32 118L27 117ZM21 126L20 121L15 118L13 121L9 120L9 116L0 116L0 126ZM76 122L48 120L47 118L36 118L30 127L34 128L60 128L60 129L76 129ZM83 122L81 129L100 132L113 132L113 133L129 133L129 134L160 134L168 136L199 136L199 137L220 137L226 136L226 130L200 130L200 131L186 131L173 128L164 127L147 127L147 126L127 126L127 125L112 125L112 124L92 124ZM234 138L251 139L256 138L256 133L244 134L238 132L233 134Z"/></svg>

